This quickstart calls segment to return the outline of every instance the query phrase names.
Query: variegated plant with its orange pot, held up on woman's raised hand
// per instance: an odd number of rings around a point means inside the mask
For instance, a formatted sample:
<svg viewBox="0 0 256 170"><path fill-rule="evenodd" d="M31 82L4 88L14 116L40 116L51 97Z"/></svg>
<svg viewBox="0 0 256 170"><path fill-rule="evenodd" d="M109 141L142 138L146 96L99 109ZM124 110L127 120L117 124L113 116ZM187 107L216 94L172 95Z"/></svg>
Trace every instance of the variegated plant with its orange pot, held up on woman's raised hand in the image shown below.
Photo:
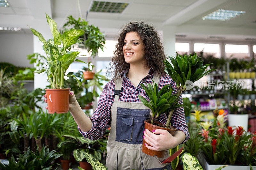
<svg viewBox="0 0 256 170"><path fill-rule="evenodd" d="M63 88L64 76L71 63L74 61L82 62L75 58L80 52L70 51L71 45L77 43L79 36L84 34L80 29L68 29L63 34L57 30L56 22L46 14L47 22L51 28L53 39L46 41L43 35L35 29L30 28L32 33L36 35L39 41L43 42L43 49L46 53L47 68L35 71L42 73L46 71L48 80L52 89L45 89L47 96L48 113L68 113L69 91L70 89ZM60 45L63 47L60 47ZM68 75L73 76L74 75ZM79 87L81 82L76 78Z"/></svg>

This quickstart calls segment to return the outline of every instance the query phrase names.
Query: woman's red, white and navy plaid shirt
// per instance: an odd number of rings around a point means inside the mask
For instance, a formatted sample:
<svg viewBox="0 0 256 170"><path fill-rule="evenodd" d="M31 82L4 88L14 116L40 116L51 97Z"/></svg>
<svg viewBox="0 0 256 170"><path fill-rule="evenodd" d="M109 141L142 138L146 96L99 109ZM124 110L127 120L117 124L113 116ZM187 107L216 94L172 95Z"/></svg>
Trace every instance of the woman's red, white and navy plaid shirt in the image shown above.
<svg viewBox="0 0 256 170"><path fill-rule="evenodd" d="M131 83L129 78L126 77L127 71L128 70L125 70L121 73L121 77L123 77L123 82L122 82L123 90L120 94L119 101L141 102L138 97L138 94L144 97L145 99L147 99L148 101L150 101L148 96L146 95L146 92L142 89L140 84L143 83L144 85L147 85L148 83L152 83L151 79L153 78L153 75L154 75L153 69L151 68L149 70L148 75L140 81L137 87L135 87ZM172 94L176 94L177 93L176 83L172 80L172 78L168 74L162 73L162 76L158 83L158 90L160 90L164 85L167 85L167 84L172 85L172 89L173 89ZM94 111L92 117L89 117L92 121L92 129L88 132L83 132L79 127L77 127L79 132L85 138L88 138L91 140L100 139L103 136L105 130L109 127L111 123L111 119L110 119L111 106L115 99L115 97L113 97L114 90L115 90L114 80L109 81L103 88L100 94L98 107ZM182 95L180 95L180 99L181 100L179 101L179 104L183 104ZM166 120L167 120L166 114L161 114L158 117L158 121L161 123L165 124ZM182 142L182 143L185 143L189 138L189 133L188 133L188 125L186 124L186 121L185 121L185 114L184 114L183 107L180 107L174 110L172 119L171 119L171 124L177 130L180 130L185 133L186 138Z"/></svg>

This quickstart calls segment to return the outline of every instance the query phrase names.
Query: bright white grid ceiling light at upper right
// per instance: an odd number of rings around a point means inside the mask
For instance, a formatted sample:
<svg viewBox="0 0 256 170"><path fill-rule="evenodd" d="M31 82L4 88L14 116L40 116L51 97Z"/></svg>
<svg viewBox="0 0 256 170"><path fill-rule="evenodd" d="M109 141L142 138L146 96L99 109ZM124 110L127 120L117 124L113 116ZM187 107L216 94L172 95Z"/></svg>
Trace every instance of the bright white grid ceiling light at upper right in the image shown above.
<svg viewBox="0 0 256 170"><path fill-rule="evenodd" d="M245 11L217 10L204 16L202 19L226 21L228 19L235 18L244 13Z"/></svg>

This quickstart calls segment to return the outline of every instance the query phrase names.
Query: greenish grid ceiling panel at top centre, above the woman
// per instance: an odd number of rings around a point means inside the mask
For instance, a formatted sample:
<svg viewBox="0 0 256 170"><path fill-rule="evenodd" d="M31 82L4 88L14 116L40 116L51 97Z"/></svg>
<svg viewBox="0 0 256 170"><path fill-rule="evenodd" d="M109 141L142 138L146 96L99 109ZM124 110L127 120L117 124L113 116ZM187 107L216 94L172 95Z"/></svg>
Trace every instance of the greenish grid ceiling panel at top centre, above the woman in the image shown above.
<svg viewBox="0 0 256 170"><path fill-rule="evenodd" d="M91 12L122 13L129 3L93 1Z"/></svg>

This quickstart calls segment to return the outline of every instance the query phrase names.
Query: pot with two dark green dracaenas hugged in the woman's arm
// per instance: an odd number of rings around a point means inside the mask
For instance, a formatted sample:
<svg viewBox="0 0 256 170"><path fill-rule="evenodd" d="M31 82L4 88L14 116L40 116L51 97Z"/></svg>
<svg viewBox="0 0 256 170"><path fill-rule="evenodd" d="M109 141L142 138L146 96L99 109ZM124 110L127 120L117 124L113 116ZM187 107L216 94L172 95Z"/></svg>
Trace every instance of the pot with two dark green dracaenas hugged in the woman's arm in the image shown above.
<svg viewBox="0 0 256 170"><path fill-rule="evenodd" d="M151 122L144 121L145 129L150 131L155 129L165 129L173 135L176 131L176 129L170 124L173 111L179 107L187 107L182 104L180 94L186 90L186 87L191 87L192 83L216 69L207 70L207 67L210 64L203 65L204 61L202 60L202 57L199 57L196 54L185 54L184 56L177 54L176 58L173 56L169 56L169 58L171 63L167 59L163 61L165 65L165 72L172 78L173 81L175 81L177 92L172 94L173 90L171 85L165 85L158 92L158 86L154 82L153 85L149 83L147 86L140 84L145 90L150 102L140 95L139 98L145 106L152 110ZM163 113L169 113L164 126L156 122L159 115ZM157 155L159 158L164 157L165 151L149 150L144 143L146 143L146 141L143 139L142 152L151 156Z"/></svg>

